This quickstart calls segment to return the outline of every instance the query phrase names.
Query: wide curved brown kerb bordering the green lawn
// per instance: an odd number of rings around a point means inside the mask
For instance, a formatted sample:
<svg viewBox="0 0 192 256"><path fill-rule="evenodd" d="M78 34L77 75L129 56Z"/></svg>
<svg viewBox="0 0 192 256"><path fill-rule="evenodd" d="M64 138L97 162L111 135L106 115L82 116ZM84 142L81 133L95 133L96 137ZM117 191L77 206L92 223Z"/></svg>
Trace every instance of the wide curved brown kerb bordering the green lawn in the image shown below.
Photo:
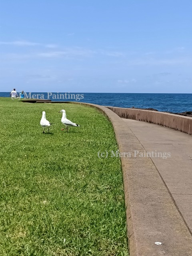
<svg viewBox="0 0 192 256"><path fill-rule="evenodd" d="M104 106L63 103L99 110L114 127L119 151L132 152L121 157L130 256L191 256L192 234L152 160L134 157L134 150L146 151L125 122Z"/></svg>

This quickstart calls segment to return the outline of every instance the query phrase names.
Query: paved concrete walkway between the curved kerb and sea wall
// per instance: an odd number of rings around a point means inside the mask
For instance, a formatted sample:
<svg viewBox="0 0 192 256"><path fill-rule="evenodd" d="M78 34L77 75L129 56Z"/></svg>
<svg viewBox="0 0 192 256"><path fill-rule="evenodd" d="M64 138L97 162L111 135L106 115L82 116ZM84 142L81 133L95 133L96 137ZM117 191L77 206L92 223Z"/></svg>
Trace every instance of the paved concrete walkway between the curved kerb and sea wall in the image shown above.
<svg viewBox="0 0 192 256"><path fill-rule="evenodd" d="M192 232L192 136L156 124L122 120L150 154Z"/></svg>

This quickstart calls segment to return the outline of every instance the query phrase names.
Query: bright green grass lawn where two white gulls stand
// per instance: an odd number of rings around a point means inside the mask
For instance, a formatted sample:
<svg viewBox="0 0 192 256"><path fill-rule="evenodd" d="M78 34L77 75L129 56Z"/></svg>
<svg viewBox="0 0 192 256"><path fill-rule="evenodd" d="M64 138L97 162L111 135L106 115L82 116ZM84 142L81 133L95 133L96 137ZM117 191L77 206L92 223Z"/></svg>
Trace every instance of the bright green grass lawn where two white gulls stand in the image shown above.
<svg viewBox="0 0 192 256"><path fill-rule="evenodd" d="M81 127L61 131L61 109ZM0 116L0 255L127 256L120 160L98 158L118 149L106 117L10 98L0 98Z"/></svg>

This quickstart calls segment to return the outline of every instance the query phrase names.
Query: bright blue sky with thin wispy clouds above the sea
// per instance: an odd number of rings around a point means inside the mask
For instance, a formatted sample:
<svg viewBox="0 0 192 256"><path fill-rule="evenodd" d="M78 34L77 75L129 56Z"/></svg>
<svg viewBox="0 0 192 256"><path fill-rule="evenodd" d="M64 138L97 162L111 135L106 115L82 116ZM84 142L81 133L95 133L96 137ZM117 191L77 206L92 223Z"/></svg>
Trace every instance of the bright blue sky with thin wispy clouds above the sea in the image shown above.
<svg viewBox="0 0 192 256"><path fill-rule="evenodd" d="M192 93L191 0L0 1L0 91Z"/></svg>

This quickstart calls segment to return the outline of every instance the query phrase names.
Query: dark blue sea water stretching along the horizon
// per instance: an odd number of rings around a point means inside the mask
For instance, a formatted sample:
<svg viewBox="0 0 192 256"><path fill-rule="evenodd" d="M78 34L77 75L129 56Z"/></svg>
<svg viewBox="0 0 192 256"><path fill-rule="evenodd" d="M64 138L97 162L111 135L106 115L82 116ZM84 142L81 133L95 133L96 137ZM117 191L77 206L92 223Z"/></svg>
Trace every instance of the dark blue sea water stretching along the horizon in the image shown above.
<svg viewBox="0 0 192 256"><path fill-rule="evenodd" d="M27 93L28 94L28 93ZM155 108L159 111L185 112L192 111L192 94L156 94L156 93L54 93L48 96L47 92L33 92L41 94L44 99L52 101L79 101L116 106L122 108ZM54 96L55 94L55 96ZM60 98L62 94L64 98ZM83 95L82 96L80 95ZM58 96L59 95L59 96ZM0 97L9 97L10 92L0 92ZM28 94L29 96L29 94ZM40 95L38 96L40 98Z"/></svg>

